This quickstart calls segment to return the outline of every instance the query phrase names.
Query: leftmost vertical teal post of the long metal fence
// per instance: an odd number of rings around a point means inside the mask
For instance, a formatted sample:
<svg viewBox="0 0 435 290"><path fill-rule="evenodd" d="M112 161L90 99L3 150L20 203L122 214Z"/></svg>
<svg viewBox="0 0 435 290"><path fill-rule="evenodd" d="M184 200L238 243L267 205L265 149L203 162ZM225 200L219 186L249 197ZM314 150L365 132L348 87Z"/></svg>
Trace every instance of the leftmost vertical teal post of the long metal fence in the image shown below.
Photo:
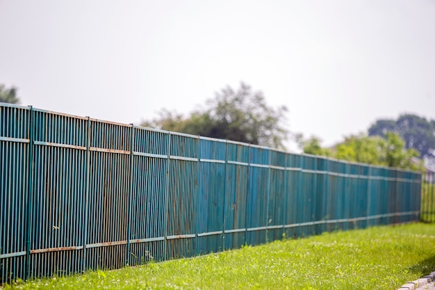
<svg viewBox="0 0 435 290"><path fill-rule="evenodd" d="M27 172L27 208L26 208L26 268L24 277L26 280L30 277L30 239L31 239L31 200L33 195L33 106L28 106L30 109L30 118L28 126L28 172Z"/></svg>

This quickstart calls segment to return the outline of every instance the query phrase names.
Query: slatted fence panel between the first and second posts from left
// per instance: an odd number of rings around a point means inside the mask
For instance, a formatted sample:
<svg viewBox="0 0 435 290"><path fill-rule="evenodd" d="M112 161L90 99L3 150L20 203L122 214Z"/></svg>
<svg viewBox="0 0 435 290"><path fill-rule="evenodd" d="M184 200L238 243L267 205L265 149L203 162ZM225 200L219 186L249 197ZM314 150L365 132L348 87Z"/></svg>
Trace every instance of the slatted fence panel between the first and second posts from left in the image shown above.
<svg viewBox="0 0 435 290"><path fill-rule="evenodd" d="M38 109L32 118L28 275L77 272L83 257L88 121Z"/></svg>

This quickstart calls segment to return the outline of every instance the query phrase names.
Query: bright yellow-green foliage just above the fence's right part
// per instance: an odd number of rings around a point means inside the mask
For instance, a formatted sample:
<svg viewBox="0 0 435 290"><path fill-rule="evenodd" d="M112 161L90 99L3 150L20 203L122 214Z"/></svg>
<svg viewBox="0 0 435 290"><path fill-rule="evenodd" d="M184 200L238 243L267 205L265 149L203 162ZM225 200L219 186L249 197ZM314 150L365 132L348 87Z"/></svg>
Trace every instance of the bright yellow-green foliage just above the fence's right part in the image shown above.
<svg viewBox="0 0 435 290"><path fill-rule="evenodd" d="M336 159L369 163L378 166L388 166L395 168L407 168L412 170L421 170L421 162L416 162L419 156L417 150L407 149L405 141L396 133L386 132L386 138L380 136L349 136L343 143L334 147L334 149L322 148L320 140L312 137L303 140L299 137L299 146L304 153L322 156L331 156ZM301 141L302 140L302 141Z"/></svg>

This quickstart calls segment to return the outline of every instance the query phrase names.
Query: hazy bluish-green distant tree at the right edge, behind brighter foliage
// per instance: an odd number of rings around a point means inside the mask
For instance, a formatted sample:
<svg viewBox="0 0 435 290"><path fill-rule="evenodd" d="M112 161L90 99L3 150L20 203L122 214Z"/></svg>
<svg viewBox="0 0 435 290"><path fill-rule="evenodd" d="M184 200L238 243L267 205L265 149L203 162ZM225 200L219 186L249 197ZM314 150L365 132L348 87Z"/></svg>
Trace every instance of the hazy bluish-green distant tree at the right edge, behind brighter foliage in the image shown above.
<svg viewBox="0 0 435 290"><path fill-rule="evenodd" d="M377 120L368 129L369 136L386 138L387 132L399 134L405 140L405 147L417 150L422 158L435 158L435 120L404 114L397 120Z"/></svg>

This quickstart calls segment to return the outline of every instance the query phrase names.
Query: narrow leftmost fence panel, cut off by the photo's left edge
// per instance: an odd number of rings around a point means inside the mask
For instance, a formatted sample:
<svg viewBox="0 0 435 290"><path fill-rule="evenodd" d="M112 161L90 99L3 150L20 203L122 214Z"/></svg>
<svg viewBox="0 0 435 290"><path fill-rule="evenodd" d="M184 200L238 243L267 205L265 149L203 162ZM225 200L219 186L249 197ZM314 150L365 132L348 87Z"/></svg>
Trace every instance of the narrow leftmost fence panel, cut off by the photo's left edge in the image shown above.
<svg viewBox="0 0 435 290"><path fill-rule="evenodd" d="M31 108L0 105L1 282L27 275Z"/></svg>

